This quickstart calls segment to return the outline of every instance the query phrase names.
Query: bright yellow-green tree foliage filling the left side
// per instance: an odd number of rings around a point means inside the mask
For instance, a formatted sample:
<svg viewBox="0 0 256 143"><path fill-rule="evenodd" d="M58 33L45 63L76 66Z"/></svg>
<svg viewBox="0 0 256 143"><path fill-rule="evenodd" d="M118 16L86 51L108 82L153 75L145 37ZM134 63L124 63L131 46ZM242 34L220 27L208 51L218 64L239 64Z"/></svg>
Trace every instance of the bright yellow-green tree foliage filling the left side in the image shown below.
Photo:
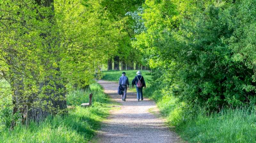
<svg viewBox="0 0 256 143"><path fill-rule="evenodd" d="M0 87L0 98L11 94L23 124L39 112L63 113L68 83L83 88L95 72L100 77L125 21L113 21L100 2L0 2L0 81L10 85Z"/></svg>

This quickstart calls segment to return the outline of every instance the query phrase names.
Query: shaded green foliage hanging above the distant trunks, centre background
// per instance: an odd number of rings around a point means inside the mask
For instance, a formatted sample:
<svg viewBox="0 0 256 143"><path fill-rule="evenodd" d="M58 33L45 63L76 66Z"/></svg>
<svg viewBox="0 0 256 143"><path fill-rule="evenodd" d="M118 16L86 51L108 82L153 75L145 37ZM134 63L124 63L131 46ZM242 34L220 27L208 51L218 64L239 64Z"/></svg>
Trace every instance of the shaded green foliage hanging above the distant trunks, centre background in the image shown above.
<svg viewBox="0 0 256 143"><path fill-rule="evenodd" d="M120 27L118 35L112 40L116 41L115 50L108 52L109 59L115 56L120 60L132 64L132 62L142 63L141 53L131 45L131 39L134 38L134 26L132 18L126 15L129 11L134 11L143 4L144 0L103 0L100 5L108 12L108 18L116 26ZM131 58L130 55L133 55Z"/></svg>

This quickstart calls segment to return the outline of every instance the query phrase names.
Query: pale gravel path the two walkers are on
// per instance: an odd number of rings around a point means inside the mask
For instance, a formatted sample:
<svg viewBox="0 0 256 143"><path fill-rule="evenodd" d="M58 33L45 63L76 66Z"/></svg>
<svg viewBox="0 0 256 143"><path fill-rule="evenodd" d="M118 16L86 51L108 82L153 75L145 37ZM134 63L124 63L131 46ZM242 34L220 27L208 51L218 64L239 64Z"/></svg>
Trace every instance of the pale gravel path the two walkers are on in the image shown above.
<svg viewBox="0 0 256 143"><path fill-rule="evenodd" d="M136 93L128 92L126 102L117 94L118 83L98 81L110 98L121 103L120 110L111 111L110 117L96 136L98 143L180 143L179 137L166 127L164 119L148 110L156 109L153 101L144 98L138 102Z"/></svg>

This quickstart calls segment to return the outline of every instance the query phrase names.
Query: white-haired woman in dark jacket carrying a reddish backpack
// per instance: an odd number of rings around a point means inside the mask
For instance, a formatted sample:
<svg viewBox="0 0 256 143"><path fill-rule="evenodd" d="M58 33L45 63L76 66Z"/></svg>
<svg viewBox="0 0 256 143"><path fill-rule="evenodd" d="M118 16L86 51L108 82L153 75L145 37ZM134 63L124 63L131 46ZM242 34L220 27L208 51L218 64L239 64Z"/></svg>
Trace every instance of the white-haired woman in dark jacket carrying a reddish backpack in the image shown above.
<svg viewBox="0 0 256 143"><path fill-rule="evenodd" d="M141 75L140 71L137 71L136 73L137 75L135 76L135 78L132 80L132 87L133 85L136 85L136 90L137 90L137 99L138 101L143 100L143 93L142 93L142 89L143 87L146 88L146 83L144 81L143 76Z"/></svg>

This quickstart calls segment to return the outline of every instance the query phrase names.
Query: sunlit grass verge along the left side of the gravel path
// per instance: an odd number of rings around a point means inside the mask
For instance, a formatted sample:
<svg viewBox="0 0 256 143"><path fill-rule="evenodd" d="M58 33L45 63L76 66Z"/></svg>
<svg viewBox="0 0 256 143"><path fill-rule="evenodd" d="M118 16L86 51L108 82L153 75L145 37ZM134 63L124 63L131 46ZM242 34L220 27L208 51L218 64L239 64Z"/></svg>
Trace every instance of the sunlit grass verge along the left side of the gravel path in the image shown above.
<svg viewBox="0 0 256 143"><path fill-rule="evenodd" d="M93 93L91 107L76 106L65 115L48 117L40 123L31 122L28 127L17 125L13 131L2 129L0 143L88 143L108 115L106 95L97 83L91 85L91 91L79 90L67 95L69 105L80 105L88 102L90 92Z"/></svg>

